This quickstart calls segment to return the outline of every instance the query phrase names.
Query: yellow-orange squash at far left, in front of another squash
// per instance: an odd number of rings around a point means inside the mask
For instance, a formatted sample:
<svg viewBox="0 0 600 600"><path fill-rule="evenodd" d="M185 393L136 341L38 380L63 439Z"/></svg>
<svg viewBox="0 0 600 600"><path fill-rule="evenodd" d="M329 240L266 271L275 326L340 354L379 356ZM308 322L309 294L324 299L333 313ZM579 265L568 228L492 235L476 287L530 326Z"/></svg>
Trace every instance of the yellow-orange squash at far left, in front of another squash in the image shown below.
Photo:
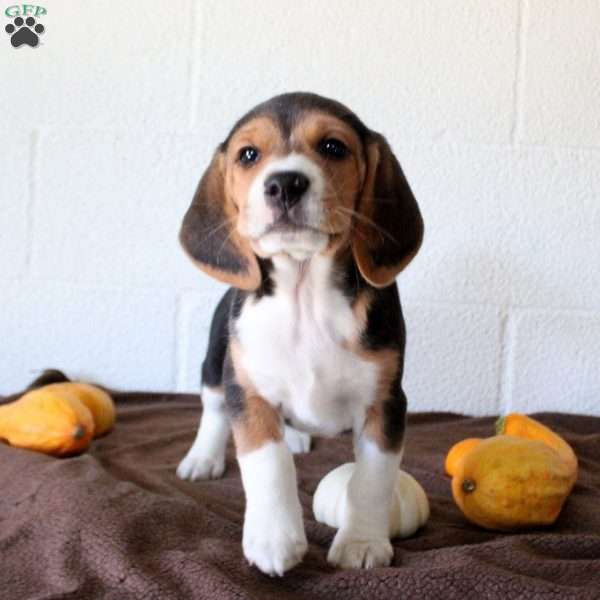
<svg viewBox="0 0 600 600"><path fill-rule="evenodd" d="M85 450L94 435L92 413L72 391L49 387L0 406L0 439L55 456Z"/></svg>

